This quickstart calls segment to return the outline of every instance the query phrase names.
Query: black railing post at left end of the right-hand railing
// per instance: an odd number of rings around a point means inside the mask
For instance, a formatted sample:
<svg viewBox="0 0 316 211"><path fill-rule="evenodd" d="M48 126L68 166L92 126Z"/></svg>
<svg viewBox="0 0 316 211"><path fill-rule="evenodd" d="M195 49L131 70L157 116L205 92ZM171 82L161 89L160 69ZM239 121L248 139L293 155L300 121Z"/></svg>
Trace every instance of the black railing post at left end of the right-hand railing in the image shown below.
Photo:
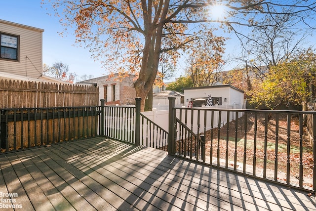
<svg viewBox="0 0 316 211"><path fill-rule="evenodd" d="M175 105L175 97L168 97L169 99L169 135L168 135L168 154L174 155L176 153L175 146L175 125L176 125L176 114L174 105Z"/></svg>

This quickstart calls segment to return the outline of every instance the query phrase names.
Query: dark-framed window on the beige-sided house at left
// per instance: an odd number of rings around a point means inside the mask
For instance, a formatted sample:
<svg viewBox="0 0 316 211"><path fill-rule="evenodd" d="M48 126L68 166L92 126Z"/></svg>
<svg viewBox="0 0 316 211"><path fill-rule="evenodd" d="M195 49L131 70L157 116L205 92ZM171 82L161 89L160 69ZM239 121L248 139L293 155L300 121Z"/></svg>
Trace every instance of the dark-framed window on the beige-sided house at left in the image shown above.
<svg viewBox="0 0 316 211"><path fill-rule="evenodd" d="M19 36L0 33L0 58L19 60Z"/></svg>

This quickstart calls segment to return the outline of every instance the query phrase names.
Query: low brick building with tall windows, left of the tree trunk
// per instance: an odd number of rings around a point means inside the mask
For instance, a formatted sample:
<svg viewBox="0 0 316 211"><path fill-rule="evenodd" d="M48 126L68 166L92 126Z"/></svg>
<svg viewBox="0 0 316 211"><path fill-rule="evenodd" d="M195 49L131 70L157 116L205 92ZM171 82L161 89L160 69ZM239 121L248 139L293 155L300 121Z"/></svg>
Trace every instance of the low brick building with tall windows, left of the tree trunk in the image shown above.
<svg viewBox="0 0 316 211"><path fill-rule="evenodd" d="M78 82L99 86L99 99L105 99L106 105L135 105L136 91L134 88L135 75L102 76Z"/></svg>

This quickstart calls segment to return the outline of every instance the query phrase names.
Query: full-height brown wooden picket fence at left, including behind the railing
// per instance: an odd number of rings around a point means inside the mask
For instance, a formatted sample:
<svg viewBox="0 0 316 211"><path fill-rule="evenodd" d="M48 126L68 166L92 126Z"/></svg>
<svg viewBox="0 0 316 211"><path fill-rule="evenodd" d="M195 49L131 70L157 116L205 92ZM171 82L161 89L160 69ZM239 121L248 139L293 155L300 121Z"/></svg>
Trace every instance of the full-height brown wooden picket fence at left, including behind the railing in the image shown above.
<svg viewBox="0 0 316 211"><path fill-rule="evenodd" d="M97 86L0 80L0 149L97 135Z"/></svg>

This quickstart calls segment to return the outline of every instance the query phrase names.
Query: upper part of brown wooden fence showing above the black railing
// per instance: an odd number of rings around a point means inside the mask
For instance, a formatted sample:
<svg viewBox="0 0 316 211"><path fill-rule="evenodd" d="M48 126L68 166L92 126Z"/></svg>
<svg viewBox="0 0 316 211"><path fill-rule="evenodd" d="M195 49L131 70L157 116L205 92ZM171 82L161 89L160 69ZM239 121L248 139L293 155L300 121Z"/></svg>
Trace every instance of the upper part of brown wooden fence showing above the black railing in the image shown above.
<svg viewBox="0 0 316 211"><path fill-rule="evenodd" d="M0 108L97 106L96 86L0 80Z"/></svg>

